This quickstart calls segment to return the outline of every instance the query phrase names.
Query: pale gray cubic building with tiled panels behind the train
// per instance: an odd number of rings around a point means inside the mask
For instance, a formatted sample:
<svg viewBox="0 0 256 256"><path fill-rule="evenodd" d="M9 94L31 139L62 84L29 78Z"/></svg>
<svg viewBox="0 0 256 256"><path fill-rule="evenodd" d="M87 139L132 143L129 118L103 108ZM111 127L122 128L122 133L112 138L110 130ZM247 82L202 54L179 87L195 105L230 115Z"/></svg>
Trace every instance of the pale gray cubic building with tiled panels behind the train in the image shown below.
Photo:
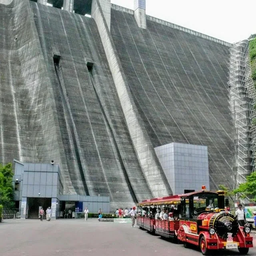
<svg viewBox="0 0 256 256"><path fill-rule="evenodd" d="M173 194L210 190L207 146L169 143L155 148Z"/></svg>

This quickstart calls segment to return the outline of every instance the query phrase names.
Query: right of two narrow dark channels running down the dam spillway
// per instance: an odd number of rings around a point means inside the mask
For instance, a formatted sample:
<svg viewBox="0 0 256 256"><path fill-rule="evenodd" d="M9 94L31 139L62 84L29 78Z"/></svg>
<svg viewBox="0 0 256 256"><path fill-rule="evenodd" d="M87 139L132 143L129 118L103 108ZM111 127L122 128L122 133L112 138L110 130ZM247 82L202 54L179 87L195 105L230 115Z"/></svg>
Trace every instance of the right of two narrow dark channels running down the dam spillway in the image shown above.
<svg viewBox="0 0 256 256"><path fill-rule="evenodd" d="M87 68L88 68L89 76L90 76L90 79L91 79L91 82L92 82L92 87L93 87L93 89L94 89L96 98L97 98L97 100L98 100L98 102L99 102L101 112L102 112L102 114L103 114L103 116L104 116L104 119L105 119L105 121L106 121L106 124L107 124L107 126L108 126L108 129L109 129L109 131L110 131L112 140L113 140L113 142L114 142L114 146L115 146L115 148L116 148L116 153L117 153L117 155L118 155L118 160L119 160L119 162L120 162L120 165L121 165L121 168L122 168L122 171L123 171L123 174L124 174L124 178L125 178L125 180L126 180L126 184L127 184L128 188L129 188L129 190L130 190L132 199L134 200L135 203L137 203L137 202L138 202L138 199L137 199L137 197L136 197L136 194L135 194L135 192L134 192L134 190L133 190L133 188L132 188L132 184L131 184L130 179L129 179L129 177L128 177L128 174L127 174L127 172L126 172L126 168L125 168L125 166L124 166L124 162L123 162L123 160L122 160L122 156L121 156L120 151L119 151L119 149L118 149L118 145L117 145L117 142L116 142L116 139L115 139L113 130L112 130L111 126L110 126L110 123L108 122L108 118L107 118L107 116L106 116L106 113L105 113L105 111L104 111L104 108L103 108L103 106L102 106L102 104L101 104L101 102L100 102L100 98L99 98L99 96L98 96L98 93L96 92L96 89L95 89L95 86L94 86L94 78L93 78L93 75L92 75L93 63L92 63L92 62L86 62L86 66L87 66Z"/></svg>

